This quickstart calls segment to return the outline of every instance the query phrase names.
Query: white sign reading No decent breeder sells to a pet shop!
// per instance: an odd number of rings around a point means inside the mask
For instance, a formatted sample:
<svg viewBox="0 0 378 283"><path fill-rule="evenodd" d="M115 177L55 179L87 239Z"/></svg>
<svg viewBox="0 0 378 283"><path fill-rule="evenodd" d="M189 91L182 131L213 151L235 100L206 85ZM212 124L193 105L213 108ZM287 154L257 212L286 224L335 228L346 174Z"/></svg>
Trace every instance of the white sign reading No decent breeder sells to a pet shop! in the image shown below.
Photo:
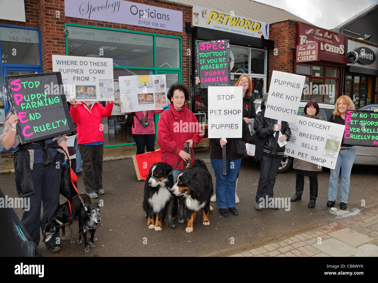
<svg viewBox="0 0 378 283"><path fill-rule="evenodd" d="M344 125L297 116L289 126L286 155L335 169Z"/></svg>

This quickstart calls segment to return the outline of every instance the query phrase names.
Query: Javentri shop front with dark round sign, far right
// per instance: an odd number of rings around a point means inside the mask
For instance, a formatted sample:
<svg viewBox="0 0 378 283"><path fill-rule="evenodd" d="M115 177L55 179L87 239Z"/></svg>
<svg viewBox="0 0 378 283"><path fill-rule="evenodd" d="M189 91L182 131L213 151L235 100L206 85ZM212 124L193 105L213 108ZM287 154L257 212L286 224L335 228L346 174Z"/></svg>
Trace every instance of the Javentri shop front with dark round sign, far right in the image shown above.
<svg viewBox="0 0 378 283"><path fill-rule="evenodd" d="M356 108L374 103L378 47L348 40L347 48L345 95L352 98Z"/></svg>

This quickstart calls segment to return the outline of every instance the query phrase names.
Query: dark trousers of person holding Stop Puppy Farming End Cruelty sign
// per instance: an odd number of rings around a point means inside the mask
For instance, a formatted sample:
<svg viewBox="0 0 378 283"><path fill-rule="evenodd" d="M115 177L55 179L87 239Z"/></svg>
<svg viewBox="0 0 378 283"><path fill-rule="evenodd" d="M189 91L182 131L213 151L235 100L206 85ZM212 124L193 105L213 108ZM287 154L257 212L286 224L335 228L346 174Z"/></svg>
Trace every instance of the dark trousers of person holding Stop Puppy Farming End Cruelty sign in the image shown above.
<svg viewBox="0 0 378 283"><path fill-rule="evenodd" d="M29 164L28 164L29 166ZM31 177L33 179L34 191L36 194L31 195L29 210L22 212L21 222L25 226L26 231L30 234L34 243L38 246L40 241L39 228L45 230L45 219L49 220L54 215L59 206L61 169L56 168L53 162L51 165L43 167L42 163L34 163ZM43 213L41 218L41 203L43 205ZM45 242L46 246L59 243L59 230Z"/></svg>

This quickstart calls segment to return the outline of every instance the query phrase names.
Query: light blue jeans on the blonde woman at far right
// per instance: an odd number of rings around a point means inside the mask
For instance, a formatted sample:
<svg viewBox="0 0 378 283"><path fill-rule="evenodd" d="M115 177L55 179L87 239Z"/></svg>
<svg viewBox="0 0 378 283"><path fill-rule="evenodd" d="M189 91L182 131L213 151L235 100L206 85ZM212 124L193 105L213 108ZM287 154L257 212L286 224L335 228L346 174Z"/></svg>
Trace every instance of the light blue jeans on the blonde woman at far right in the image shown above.
<svg viewBox="0 0 378 283"><path fill-rule="evenodd" d="M341 148L345 147L342 146ZM328 189L328 200L336 200L339 174L341 168L340 202L347 203L350 185L350 172L352 171L352 166L355 158L355 146L352 146L349 149L339 151L339 157L337 158L335 170L331 169L330 186Z"/></svg>

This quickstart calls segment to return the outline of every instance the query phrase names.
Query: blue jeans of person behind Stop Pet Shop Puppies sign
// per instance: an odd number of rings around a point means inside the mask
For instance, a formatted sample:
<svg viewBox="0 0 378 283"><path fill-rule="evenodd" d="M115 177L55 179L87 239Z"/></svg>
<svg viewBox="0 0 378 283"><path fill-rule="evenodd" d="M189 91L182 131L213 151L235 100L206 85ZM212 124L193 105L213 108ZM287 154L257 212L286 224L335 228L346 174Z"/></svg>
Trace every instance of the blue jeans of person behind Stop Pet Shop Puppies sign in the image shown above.
<svg viewBox="0 0 378 283"><path fill-rule="evenodd" d="M236 177L242 158L226 160L226 176L223 176L222 159L210 158L215 173L217 208L235 207Z"/></svg>

